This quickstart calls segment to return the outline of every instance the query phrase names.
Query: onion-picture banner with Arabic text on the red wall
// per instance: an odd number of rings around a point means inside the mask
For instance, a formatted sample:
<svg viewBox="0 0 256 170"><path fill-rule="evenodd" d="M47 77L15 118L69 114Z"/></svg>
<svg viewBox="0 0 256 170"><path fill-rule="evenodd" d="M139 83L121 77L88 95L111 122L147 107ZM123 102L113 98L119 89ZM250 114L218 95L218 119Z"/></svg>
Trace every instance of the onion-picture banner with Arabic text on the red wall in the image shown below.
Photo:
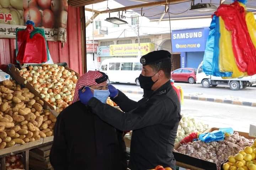
<svg viewBox="0 0 256 170"><path fill-rule="evenodd" d="M0 38L15 38L27 20L44 28L48 41L66 41L68 0L0 0Z"/></svg>

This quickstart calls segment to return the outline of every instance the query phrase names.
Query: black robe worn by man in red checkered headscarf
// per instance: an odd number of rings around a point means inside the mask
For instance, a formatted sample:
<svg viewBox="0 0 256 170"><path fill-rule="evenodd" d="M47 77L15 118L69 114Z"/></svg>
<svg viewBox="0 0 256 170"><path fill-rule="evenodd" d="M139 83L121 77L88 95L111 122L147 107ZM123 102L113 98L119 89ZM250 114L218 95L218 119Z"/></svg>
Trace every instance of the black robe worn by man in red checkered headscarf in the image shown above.
<svg viewBox="0 0 256 170"><path fill-rule="evenodd" d="M123 132L105 123L80 101L57 117L50 163L54 170L124 170Z"/></svg>

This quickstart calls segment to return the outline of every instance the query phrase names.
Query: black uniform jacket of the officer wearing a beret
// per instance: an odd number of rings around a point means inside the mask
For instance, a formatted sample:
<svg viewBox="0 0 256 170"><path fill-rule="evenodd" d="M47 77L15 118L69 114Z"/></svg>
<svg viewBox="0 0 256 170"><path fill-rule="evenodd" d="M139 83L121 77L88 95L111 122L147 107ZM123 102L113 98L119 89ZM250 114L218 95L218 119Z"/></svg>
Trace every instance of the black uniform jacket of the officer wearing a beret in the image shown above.
<svg viewBox="0 0 256 170"><path fill-rule="evenodd" d="M162 165L175 169L172 150L181 109L170 81L154 92L147 92L139 102L130 100L121 91L112 100L125 113L96 98L92 98L88 106L115 128L133 130L128 167L131 170L146 170Z"/></svg>

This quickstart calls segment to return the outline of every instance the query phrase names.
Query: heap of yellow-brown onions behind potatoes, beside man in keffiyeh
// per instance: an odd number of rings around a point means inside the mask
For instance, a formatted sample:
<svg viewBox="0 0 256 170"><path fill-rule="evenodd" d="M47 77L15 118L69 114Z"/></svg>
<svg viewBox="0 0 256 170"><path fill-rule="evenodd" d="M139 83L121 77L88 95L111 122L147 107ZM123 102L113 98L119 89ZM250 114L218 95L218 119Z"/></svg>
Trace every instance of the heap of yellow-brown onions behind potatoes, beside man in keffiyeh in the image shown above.
<svg viewBox="0 0 256 170"><path fill-rule="evenodd" d="M20 75L26 79L25 83L30 83L58 113L71 104L78 80L75 72L53 64L22 68Z"/></svg>

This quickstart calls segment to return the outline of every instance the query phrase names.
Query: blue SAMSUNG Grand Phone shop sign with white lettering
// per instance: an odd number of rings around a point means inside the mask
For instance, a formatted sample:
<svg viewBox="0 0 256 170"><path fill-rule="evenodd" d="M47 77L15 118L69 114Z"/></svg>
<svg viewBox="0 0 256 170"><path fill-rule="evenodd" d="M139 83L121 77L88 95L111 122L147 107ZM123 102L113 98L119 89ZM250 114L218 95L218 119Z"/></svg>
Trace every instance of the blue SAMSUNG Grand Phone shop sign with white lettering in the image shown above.
<svg viewBox="0 0 256 170"><path fill-rule="evenodd" d="M172 31L173 52L204 51L208 38L208 28L183 29Z"/></svg>

